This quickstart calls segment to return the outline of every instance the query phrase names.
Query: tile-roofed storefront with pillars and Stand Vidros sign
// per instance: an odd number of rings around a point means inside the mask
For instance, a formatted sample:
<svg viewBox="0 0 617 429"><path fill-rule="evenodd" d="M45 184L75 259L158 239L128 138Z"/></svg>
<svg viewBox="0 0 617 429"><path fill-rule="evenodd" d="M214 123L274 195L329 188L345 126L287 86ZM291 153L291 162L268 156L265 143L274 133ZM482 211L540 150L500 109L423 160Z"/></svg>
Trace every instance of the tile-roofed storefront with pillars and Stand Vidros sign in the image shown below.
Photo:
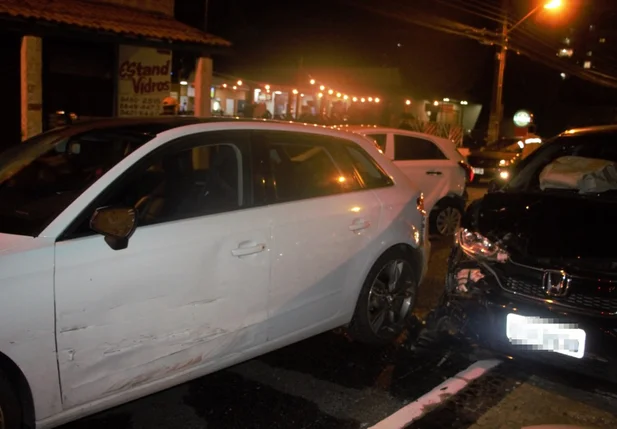
<svg viewBox="0 0 617 429"><path fill-rule="evenodd" d="M212 55L231 45L175 20L174 0L2 0L0 28L8 87L0 114L17 141L62 113L158 115L170 96L181 109L178 50L198 58L192 110L209 116Z"/></svg>

